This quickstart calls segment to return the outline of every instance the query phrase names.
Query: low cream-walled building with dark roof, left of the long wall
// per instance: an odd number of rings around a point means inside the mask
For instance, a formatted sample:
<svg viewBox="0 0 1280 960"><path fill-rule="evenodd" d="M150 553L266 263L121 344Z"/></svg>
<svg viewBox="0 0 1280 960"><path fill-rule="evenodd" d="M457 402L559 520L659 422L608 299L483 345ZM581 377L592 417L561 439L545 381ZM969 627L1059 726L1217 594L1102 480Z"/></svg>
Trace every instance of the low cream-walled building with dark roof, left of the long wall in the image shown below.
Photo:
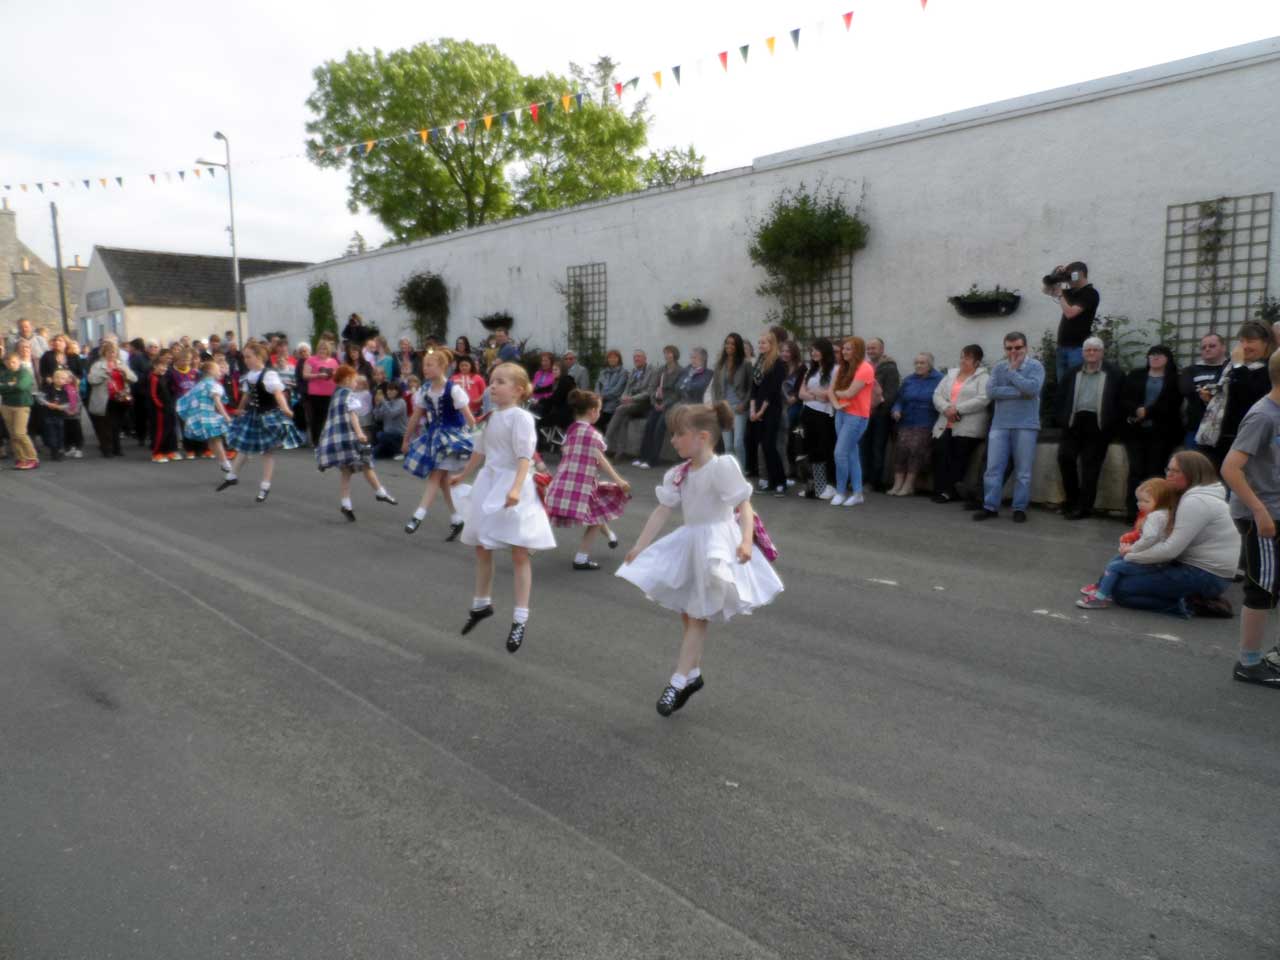
<svg viewBox="0 0 1280 960"><path fill-rule="evenodd" d="M241 303L243 280L307 266L296 260L242 257ZM232 278L230 257L96 246L76 308L82 339L114 333L123 340L141 337L170 343L183 335L205 339L234 330Z"/></svg>

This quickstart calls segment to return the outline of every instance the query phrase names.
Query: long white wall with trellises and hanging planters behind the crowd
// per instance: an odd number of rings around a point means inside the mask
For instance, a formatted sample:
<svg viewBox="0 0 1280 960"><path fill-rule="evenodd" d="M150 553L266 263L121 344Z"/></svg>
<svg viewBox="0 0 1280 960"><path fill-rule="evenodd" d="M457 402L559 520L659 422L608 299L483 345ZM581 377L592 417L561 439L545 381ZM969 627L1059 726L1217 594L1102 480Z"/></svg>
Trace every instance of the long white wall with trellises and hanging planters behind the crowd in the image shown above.
<svg viewBox="0 0 1280 960"><path fill-rule="evenodd" d="M307 288L328 280L339 324L351 311L384 333L408 329L392 306L410 273L443 275L451 335L509 311L512 334L564 344L570 266L603 262L611 347L714 348L754 335L772 303L755 293L754 218L785 187L819 180L863 200L868 247L854 259L851 332L879 335L900 362L920 349L954 362L980 343L997 357L1007 329L1033 342L1057 311L1039 276L1085 260L1102 312L1161 315L1166 211L1280 186L1280 38L1002 101L756 160L652 189L384 248L246 283L255 330L311 328ZM1270 247L1270 269L1277 266ZM965 320L950 294L1001 284L1023 292L1010 317ZM1272 280L1274 283L1274 280ZM701 326L669 324L663 306L700 297Z"/></svg>

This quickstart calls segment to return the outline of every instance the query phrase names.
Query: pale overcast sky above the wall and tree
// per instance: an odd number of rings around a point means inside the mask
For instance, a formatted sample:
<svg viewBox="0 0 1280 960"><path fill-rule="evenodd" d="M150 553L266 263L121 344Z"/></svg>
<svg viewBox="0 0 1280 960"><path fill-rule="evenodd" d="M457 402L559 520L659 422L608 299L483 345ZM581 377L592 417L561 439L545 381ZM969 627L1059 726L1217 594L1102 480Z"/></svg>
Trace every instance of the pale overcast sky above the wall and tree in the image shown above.
<svg viewBox="0 0 1280 960"><path fill-rule="evenodd" d="M854 14L849 31L846 12ZM189 173L197 159L224 159L212 138L223 131L239 255L319 261L340 256L355 230L371 247L387 238L375 218L348 211L344 172L320 170L302 156L311 72L351 49L456 37L494 44L526 73L567 73L570 61L608 55L623 77L643 78L650 146L692 143L710 173L1280 36L1280 4L50 0L10 5L5 20L0 196L41 257L52 262L50 200L58 201L65 262L78 253L87 264L93 244L229 253L225 179L220 170L212 180ZM788 36L796 27L797 50ZM768 36L777 37L772 56ZM737 52L744 44L746 64ZM722 50L730 52L727 72L717 59ZM677 64L680 84L669 73ZM663 70L660 90L654 70ZM147 177L179 169L188 170L184 182L160 175L152 186ZM115 177L124 177L123 188ZM77 186L55 189L52 180ZM46 183L44 195L18 187L36 182Z"/></svg>

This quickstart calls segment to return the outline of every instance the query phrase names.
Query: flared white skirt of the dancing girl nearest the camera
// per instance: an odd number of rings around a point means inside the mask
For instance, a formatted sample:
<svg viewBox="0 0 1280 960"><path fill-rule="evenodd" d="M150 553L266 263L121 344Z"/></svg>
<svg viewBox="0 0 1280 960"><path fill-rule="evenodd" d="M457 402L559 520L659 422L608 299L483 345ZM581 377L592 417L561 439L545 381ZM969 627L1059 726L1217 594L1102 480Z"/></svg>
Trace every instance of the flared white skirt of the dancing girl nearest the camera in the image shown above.
<svg viewBox="0 0 1280 960"><path fill-rule="evenodd" d="M696 620L750 613L782 593L782 581L759 548L746 563L737 562L741 536L732 522L686 525L623 563L616 576L654 603Z"/></svg>

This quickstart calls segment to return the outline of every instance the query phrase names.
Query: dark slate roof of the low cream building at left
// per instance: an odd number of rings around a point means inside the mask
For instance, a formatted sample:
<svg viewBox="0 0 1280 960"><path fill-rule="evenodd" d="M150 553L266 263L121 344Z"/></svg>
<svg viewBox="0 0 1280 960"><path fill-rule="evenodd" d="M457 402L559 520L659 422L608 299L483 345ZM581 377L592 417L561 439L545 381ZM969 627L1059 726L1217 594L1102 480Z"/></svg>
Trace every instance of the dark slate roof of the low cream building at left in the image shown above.
<svg viewBox="0 0 1280 960"><path fill-rule="evenodd" d="M97 247L115 289L125 306L234 310L232 259L198 253L166 253L155 250ZM241 257L241 303L243 280L253 276L311 266L294 260L247 260Z"/></svg>

